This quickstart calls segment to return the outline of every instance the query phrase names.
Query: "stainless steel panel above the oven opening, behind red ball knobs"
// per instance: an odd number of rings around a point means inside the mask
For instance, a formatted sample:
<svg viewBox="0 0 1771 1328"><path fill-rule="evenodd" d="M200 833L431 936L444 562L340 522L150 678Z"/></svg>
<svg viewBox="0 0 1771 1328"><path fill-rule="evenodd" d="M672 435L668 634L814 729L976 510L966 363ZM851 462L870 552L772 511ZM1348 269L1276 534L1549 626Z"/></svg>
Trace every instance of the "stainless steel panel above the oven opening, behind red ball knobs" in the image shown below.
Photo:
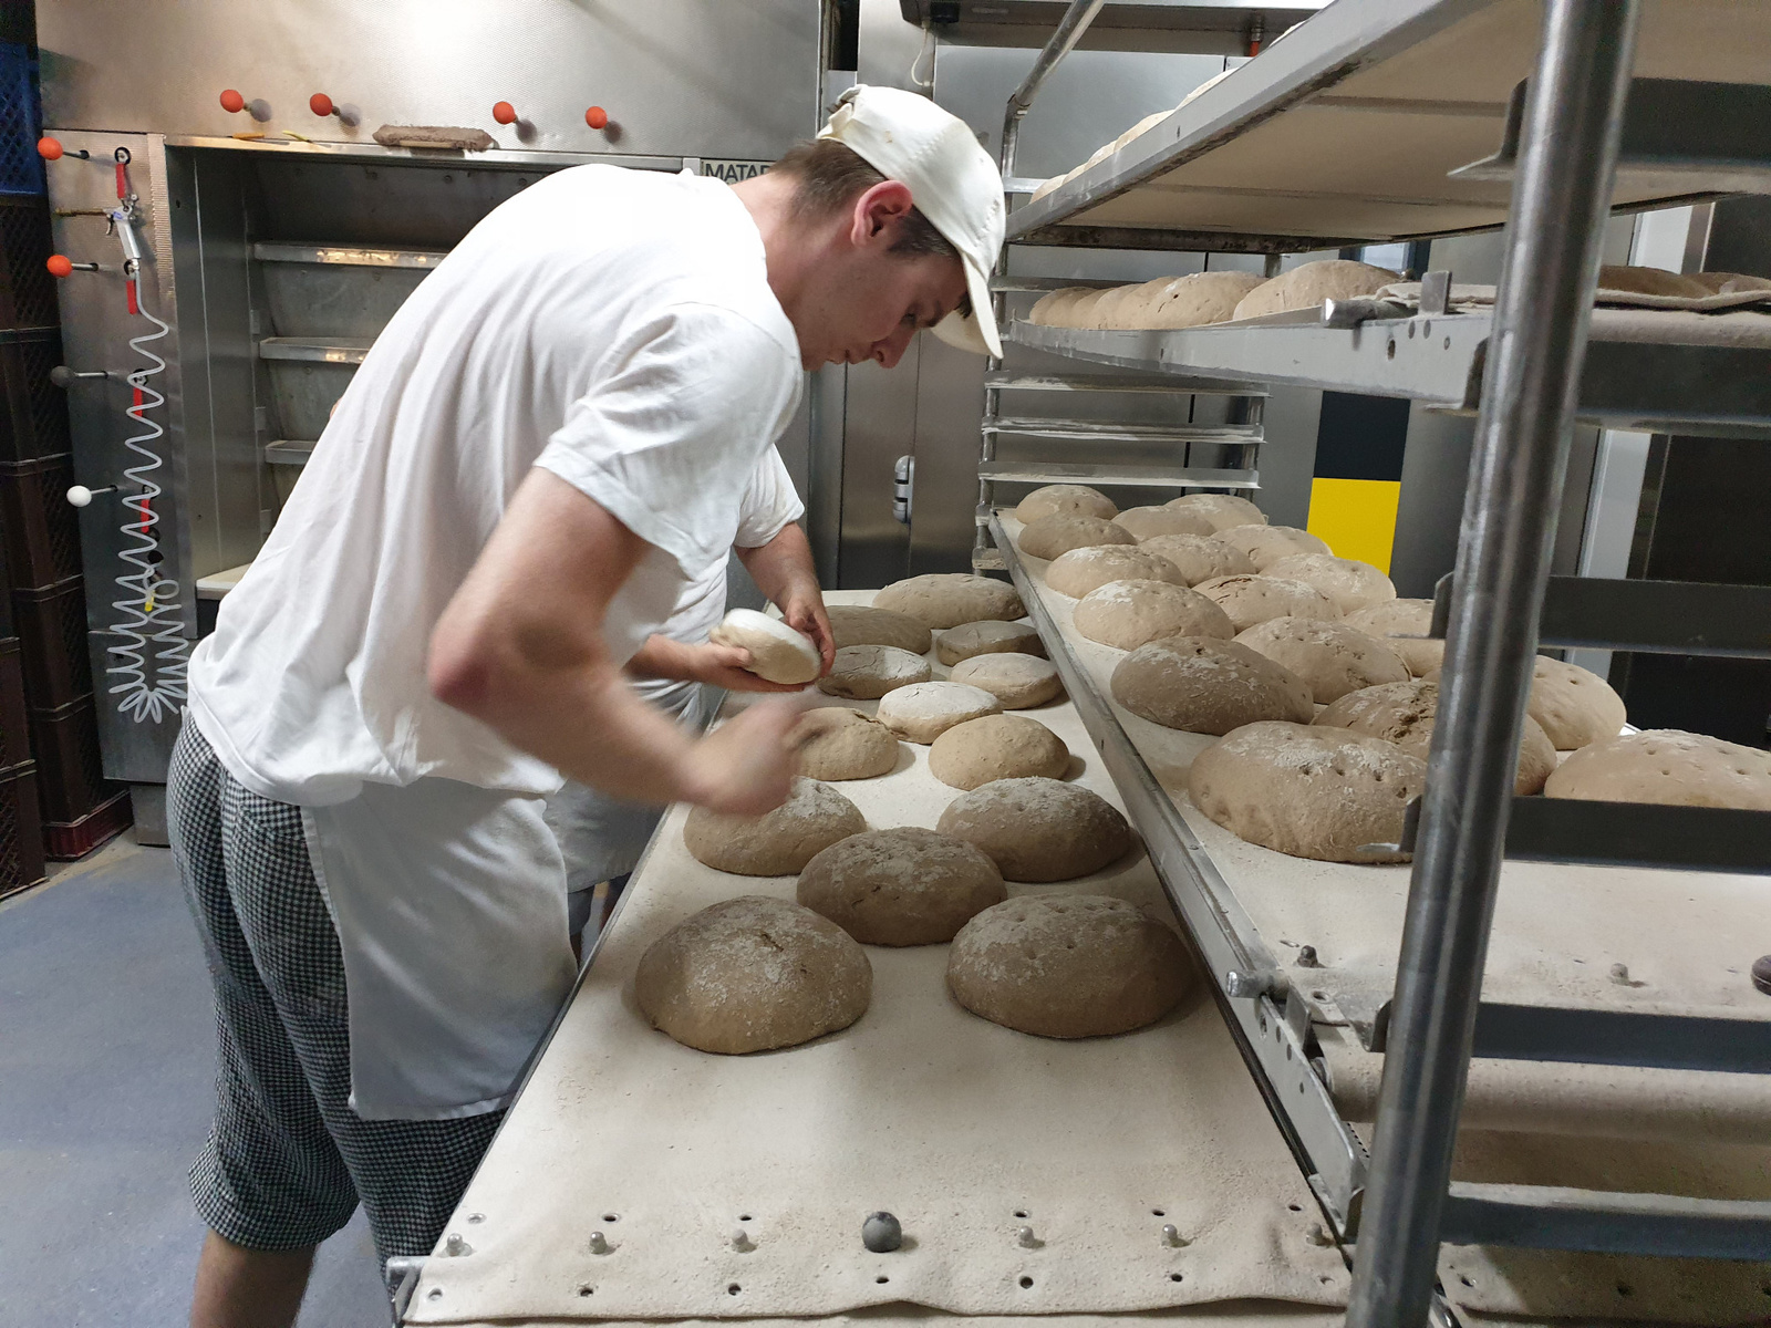
<svg viewBox="0 0 1771 1328"><path fill-rule="evenodd" d="M816 110L818 0L46 0L44 122L165 135L383 124L485 129L505 149L774 159ZM271 119L228 113L236 89ZM308 97L358 108L356 127ZM492 120L508 101L517 124ZM584 110L609 113L592 129Z"/></svg>

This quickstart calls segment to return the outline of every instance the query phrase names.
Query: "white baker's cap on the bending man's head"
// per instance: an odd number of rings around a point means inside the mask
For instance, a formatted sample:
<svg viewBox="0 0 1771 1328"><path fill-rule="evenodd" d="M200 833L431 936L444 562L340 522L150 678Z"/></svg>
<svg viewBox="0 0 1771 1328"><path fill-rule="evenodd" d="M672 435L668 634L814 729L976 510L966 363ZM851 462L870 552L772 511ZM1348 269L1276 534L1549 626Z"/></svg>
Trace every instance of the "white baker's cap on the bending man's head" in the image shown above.
<svg viewBox="0 0 1771 1328"><path fill-rule="evenodd" d="M916 209L960 251L972 313L935 324L947 345L1002 356L990 269L1002 250L1002 175L958 115L893 87L848 89L818 138L834 138L887 179L910 186Z"/></svg>

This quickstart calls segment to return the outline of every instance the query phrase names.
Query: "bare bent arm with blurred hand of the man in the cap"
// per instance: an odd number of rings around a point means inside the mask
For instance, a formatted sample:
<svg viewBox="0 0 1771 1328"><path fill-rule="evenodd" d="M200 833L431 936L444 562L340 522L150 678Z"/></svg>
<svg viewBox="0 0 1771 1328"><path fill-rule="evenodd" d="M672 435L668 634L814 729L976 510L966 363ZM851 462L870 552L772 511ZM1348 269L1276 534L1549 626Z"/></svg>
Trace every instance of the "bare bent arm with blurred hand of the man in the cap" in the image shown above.
<svg viewBox="0 0 1771 1328"><path fill-rule="evenodd" d="M646 545L556 475L530 471L430 636L430 691L563 774L717 811L779 806L797 712L751 706L691 738L641 701L602 641Z"/></svg>

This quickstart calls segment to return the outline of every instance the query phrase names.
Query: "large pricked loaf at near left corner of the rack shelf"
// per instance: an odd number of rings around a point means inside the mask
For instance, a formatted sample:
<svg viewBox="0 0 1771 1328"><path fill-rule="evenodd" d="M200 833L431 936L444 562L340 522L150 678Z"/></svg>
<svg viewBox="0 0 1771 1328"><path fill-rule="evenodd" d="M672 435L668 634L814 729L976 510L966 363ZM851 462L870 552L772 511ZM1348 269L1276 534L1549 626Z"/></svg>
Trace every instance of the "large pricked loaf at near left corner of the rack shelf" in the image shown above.
<svg viewBox="0 0 1771 1328"><path fill-rule="evenodd" d="M1362 853L1403 838L1427 763L1394 742L1319 724L1247 724L1194 758L1194 806L1250 845L1319 862L1404 862Z"/></svg>

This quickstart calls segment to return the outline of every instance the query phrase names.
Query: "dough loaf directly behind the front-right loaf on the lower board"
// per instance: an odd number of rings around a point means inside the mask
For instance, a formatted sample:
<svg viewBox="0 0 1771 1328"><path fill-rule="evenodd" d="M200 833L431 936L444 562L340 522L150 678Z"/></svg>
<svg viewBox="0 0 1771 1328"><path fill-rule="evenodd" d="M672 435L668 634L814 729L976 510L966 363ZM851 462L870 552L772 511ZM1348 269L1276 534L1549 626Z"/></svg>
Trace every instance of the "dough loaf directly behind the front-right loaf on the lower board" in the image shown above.
<svg viewBox="0 0 1771 1328"><path fill-rule="evenodd" d="M978 845L1008 880L1075 880L1132 850L1132 827L1100 793L1061 779L995 779L960 793L935 823Z"/></svg>

